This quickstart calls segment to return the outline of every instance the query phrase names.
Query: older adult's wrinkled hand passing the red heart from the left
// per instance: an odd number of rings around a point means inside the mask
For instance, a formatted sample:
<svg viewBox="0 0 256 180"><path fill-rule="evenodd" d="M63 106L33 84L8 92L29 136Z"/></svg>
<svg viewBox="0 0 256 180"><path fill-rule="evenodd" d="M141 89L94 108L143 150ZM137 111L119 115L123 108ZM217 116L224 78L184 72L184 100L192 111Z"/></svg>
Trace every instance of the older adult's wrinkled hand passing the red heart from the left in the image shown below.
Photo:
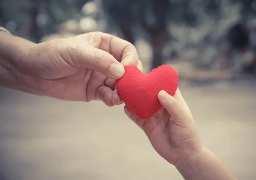
<svg viewBox="0 0 256 180"><path fill-rule="evenodd" d="M123 66L142 68L134 45L110 34L91 32L39 44L22 40L16 42L23 47L16 48L23 55L7 59L30 93L70 101L102 100L113 106L121 102L114 81L124 75Z"/></svg>

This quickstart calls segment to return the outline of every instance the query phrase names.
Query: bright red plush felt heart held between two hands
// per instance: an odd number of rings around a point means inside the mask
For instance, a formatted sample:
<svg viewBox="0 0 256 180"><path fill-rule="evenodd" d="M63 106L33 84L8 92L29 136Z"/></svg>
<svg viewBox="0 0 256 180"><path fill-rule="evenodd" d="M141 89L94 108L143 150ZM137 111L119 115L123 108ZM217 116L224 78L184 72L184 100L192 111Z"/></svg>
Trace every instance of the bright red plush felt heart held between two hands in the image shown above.
<svg viewBox="0 0 256 180"><path fill-rule="evenodd" d="M143 120L151 118L162 108L158 93L165 90L173 96L178 86L177 72L162 65L148 74L135 66L125 66L125 75L116 80L116 90L125 105Z"/></svg>

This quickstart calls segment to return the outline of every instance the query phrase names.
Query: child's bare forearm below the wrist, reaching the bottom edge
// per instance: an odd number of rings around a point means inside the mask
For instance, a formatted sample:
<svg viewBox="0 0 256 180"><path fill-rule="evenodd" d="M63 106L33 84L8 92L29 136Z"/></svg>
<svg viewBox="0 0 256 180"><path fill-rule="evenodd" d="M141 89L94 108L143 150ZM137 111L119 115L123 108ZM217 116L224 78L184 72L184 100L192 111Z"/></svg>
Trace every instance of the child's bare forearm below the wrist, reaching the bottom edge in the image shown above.
<svg viewBox="0 0 256 180"><path fill-rule="evenodd" d="M237 180L209 149L175 164L185 180Z"/></svg>

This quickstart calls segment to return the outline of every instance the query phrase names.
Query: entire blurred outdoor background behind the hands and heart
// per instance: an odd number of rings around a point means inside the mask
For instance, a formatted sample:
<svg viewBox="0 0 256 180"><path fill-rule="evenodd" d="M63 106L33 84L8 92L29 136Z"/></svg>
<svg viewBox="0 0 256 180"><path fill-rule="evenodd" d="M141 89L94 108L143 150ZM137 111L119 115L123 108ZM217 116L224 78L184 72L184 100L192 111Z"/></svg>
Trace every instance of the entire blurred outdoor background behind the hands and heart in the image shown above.
<svg viewBox="0 0 256 180"><path fill-rule="evenodd" d="M0 26L40 43L103 31L144 73L172 65L203 143L256 179L256 0L0 0ZM0 180L182 180L123 113L0 89Z"/></svg>

